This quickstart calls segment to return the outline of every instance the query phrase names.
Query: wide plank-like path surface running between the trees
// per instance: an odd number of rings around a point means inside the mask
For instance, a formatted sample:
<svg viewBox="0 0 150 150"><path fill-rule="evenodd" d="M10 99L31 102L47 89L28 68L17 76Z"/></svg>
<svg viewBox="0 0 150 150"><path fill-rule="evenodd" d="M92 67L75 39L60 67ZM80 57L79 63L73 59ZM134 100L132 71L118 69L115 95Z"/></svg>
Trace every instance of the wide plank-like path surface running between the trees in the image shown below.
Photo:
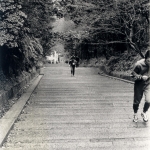
<svg viewBox="0 0 150 150"><path fill-rule="evenodd" d="M132 122L133 84L93 68L51 65L4 150L149 150L150 123ZM150 113L149 113L150 114Z"/></svg>

